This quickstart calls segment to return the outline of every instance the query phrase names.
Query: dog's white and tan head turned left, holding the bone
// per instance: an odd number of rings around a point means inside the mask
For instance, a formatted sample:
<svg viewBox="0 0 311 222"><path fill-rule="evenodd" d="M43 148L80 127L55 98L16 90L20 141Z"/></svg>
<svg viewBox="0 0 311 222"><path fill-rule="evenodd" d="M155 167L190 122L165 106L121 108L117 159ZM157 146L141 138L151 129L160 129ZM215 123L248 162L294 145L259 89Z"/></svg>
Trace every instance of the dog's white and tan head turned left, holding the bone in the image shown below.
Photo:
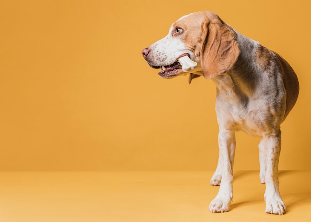
<svg viewBox="0 0 311 222"><path fill-rule="evenodd" d="M142 51L149 66L162 69L159 72L161 77L172 78L190 73L189 82L200 74L209 79L227 72L239 53L236 32L208 11L181 17L172 24L166 37ZM178 59L185 55L198 63L196 69L182 71Z"/></svg>

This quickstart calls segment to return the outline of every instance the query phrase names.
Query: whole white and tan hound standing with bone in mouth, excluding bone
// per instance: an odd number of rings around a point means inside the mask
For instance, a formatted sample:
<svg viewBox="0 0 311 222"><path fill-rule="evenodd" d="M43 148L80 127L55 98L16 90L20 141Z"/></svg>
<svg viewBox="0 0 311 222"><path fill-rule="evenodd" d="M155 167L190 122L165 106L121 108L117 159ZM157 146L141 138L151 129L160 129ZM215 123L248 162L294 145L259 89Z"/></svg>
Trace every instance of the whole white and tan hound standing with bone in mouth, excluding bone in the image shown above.
<svg viewBox="0 0 311 222"><path fill-rule="evenodd" d="M267 213L282 215L278 162L281 151L280 124L293 108L299 92L297 76L277 53L238 33L216 14L195 12L181 17L163 39L143 49L152 68L162 78L189 74L211 79L217 88L219 159L211 185L220 185L211 212L229 211L233 199L235 132L261 137L260 181L265 183ZM183 69L187 56L196 66Z"/></svg>

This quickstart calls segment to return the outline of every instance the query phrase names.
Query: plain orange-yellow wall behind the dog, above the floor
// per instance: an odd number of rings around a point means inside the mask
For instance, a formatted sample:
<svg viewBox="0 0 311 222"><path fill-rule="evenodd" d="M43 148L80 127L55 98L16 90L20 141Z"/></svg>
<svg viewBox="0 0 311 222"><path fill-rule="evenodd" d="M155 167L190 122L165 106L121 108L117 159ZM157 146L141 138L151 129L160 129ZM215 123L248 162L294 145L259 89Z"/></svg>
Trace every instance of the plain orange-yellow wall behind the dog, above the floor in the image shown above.
<svg viewBox="0 0 311 222"><path fill-rule="evenodd" d="M300 80L282 125L280 169L311 169L310 2L0 2L0 170L210 170L218 158L212 81L161 79L141 50L172 22L210 10L281 54ZM259 169L237 134L235 169Z"/></svg>

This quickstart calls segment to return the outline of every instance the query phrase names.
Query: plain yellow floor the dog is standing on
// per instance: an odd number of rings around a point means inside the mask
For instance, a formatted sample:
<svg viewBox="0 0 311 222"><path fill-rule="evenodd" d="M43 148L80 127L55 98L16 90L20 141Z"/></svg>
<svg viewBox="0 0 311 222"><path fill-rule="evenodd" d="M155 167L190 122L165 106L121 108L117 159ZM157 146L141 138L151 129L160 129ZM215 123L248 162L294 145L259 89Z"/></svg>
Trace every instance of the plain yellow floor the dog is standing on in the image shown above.
<svg viewBox="0 0 311 222"><path fill-rule="evenodd" d="M234 172L231 211L212 214L212 171L0 172L0 222L309 222L311 171L281 171L283 216L264 212L258 171Z"/></svg>

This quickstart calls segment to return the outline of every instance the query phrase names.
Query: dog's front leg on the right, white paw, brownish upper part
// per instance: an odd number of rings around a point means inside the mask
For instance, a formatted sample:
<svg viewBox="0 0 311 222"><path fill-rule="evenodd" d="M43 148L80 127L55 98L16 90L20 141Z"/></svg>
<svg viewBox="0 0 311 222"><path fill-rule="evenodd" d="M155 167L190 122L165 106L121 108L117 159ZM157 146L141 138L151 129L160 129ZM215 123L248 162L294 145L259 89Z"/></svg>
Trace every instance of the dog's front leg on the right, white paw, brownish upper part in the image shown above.
<svg viewBox="0 0 311 222"><path fill-rule="evenodd" d="M263 137L266 154L266 212L282 215L285 213L285 205L279 192L278 164L281 151L281 131L277 135Z"/></svg>

